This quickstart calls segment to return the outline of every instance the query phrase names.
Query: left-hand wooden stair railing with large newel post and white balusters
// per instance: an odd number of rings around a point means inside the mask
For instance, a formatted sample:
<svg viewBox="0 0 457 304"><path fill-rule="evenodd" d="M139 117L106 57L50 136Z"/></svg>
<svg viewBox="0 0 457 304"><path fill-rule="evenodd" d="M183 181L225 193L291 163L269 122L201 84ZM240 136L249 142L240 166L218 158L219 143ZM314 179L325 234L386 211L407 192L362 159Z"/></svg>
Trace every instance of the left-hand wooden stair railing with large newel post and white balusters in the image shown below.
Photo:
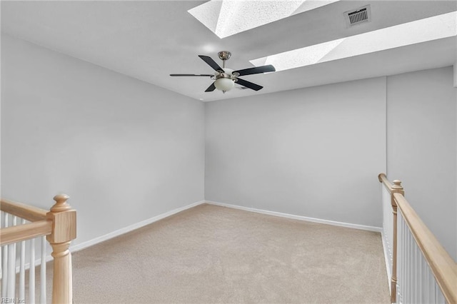
<svg viewBox="0 0 457 304"><path fill-rule="evenodd" d="M69 206L66 202L69 196L66 194L59 194L54 196L56 203L51 207L50 211L45 211L41 208L28 206L24 203L16 203L6 199L0 200L0 209L4 213L9 213L14 217L23 219L23 223L30 221L31 223L24 223L23 225L11 226L0 229L0 244L11 245L14 243L22 242L25 240L46 235L46 240L53 248L51 253L54 258L54 273L53 273L53 288L52 288L52 303L72 303L72 281L71 281L71 253L69 252L69 245L71 240L76 238L76 211ZM24 246L24 245L22 245ZM21 246L21 247L22 247ZM41 255L46 255L45 242L42 244ZM15 252L15 247L14 247ZM32 258L34 253L31 253ZM2 257L4 258L4 257ZM42 257L41 263L45 263L45 258ZM16 265L16 257L14 256L14 263ZM21 259L21 264L22 264ZM10 267L11 268L11 267ZM15 276L16 267L13 267L13 276ZM24 268L24 265L21 265ZM30 275L34 273L34 264L30 266ZM46 265L41 267L41 275L46 277ZM43 280L43 278L41 278ZM46 278L44 278L46 280ZM4 282L2 283L6 283ZM24 283L22 288L24 288ZM14 283L15 285L15 283ZM14 287L12 294L14 294ZM29 287L34 290L34 286ZM3 291L3 290L2 290ZM42 291L43 292L43 291ZM45 290L44 290L45 293ZM45 301L44 298L40 299Z"/></svg>

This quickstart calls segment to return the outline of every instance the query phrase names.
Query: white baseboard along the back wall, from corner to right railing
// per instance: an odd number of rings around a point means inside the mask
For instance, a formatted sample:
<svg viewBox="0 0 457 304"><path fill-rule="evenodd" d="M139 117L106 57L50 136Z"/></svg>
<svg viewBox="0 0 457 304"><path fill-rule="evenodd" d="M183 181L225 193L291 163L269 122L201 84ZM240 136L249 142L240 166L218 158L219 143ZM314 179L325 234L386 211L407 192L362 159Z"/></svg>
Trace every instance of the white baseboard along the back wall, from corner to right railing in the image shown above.
<svg viewBox="0 0 457 304"><path fill-rule="evenodd" d="M206 201L206 203L209 203L211 205L216 205L216 206L223 206L223 207L228 207L228 208L233 208L233 209L239 209L239 210L243 210L243 211L267 214L268 216L279 216L281 218L293 218L294 220L299 220L299 221L307 221L307 222L313 222L313 223L321 223L321 224L327 224L327 225L332 225L332 226L341 226L341 227L346 227L346 228L354 228L354 229L369 230L369 231L376 231L376 232L382 232L382 230L383 230L383 228L381 228L381 227L363 226L363 225L358 225L358 224L328 221L328 220L322 220L321 218L308 218L307 216L295 216L293 214L288 214L288 213L281 213L281 212L276 212L276 211L268 211L268 210L262 210L262 209L256 209L256 208L236 206L236 205L231 205L228 203L219 203L219 202L214 202L214 201Z"/></svg>

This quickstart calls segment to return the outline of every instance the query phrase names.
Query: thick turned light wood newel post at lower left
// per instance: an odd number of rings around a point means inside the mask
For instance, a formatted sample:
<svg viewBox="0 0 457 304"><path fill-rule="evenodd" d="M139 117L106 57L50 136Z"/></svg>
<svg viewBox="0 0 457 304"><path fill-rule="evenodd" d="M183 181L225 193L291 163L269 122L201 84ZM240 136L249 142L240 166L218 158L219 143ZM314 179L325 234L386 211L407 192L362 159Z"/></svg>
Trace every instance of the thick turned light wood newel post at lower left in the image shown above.
<svg viewBox="0 0 457 304"><path fill-rule="evenodd" d="M71 253L69 245L76 238L76 210L66 203L69 196L54 196L56 203L46 218L52 221L52 233L46 239L52 246L54 258L54 277L52 282L52 303L71 304L73 286L71 279Z"/></svg>

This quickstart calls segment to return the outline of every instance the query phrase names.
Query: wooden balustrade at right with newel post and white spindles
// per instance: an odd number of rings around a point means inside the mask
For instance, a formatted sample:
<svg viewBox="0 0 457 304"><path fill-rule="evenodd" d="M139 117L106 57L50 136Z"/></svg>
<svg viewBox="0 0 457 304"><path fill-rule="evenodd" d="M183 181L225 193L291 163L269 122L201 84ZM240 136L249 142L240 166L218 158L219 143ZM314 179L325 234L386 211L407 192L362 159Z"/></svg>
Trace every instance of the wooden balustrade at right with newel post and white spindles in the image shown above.
<svg viewBox="0 0 457 304"><path fill-rule="evenodd" d="M378 175L378 180L383 183L383 186L387 188L389 193L391 194L391 206L392 206L392 213L393 213L393 265L392 265L392 275L391 275L391 302L396 303L396 295L397 295L397 260L398 260L398 253L397 253L397 211L401 212L401 221L406 223L408 226L408 230L411 231L411 235L413 235L413 239L417 244L417 248L420 249L421 255L425 258L425 262L423 266L418 261L417 254L414 253L416 256L408 256L409 252L401 252L401 260L402 263L408 263L411 267L416 267L419 265L419 268L428 267L431 269L431 273L433 273L433 277L436 280L436 285L438 285L443 297L445 298L447 303L457 303L457 264L453 261L450 255L444 250L443 246L436 240L435 236L431 231L427 228L427 226L421 221L421 218L417 215L417 213L411 208L408 201L404 197L403 187L401 186L401 181L393 181L390 183L384 173ZM402 230L402 238L408 239L408 233ZM411 250L408 249L408 250ZM411 259L415 259L411 261ZM408 260L409 259L409 260ZM416 264L412 264L416 263ZM418 270L421 271L421 274L427 273L428 269L426 270ZM403 275L403 283L406 280L406 273ZM412 299L418 300L419 302L423 301L421 295L411 295L411 286L414 287L419 286L418 289L425 289L428 286L422 286L421 278L414 278L415 282L414 285L411 282L407 282L407 286L403 286L404 289L407 289L407 299L406 303L411 303ZM428 278L426 278L426 285L432 285L432 283L428 282ZM400 286L402 288L402 286ZM424 293L423 290L418 290L420 293ZM428 293L428 291L427 291ZM436 300L438 295L434 295L433 300ZM426 295L428 299L428 295Z"/></svg>

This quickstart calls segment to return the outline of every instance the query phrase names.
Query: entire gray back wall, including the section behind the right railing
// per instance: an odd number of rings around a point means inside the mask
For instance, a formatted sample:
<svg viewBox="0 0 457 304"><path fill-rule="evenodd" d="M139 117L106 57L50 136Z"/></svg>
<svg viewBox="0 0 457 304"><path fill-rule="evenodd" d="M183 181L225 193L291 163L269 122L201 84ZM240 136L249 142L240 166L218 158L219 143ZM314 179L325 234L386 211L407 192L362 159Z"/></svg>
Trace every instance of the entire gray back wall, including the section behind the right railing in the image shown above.
<svg viewBox="0 0 457 304"><path fill-rule="evenodd" d="M457 259L456 103L452 67L207 103L205 198L381 226L387 164Z"/></svg>

